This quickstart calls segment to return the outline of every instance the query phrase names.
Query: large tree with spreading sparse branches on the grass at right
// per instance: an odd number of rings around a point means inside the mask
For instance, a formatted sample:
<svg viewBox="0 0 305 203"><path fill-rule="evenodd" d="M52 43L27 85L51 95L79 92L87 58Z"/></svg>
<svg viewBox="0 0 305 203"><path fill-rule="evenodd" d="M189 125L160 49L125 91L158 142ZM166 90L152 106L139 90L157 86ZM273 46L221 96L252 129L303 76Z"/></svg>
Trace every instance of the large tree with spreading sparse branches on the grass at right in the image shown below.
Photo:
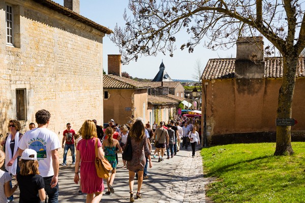
<svg viewBox="0 0 305 203"><path fill-rule="evenodd" d="M116 26L111 39L128 63L160 52L173 56L177 32L189 34L180 45L189 52L200 42L212 50L229 49L240 37L263 36L283 57L277 118L291 118L297 61L305 47L302 4L297 0L130 0L133 16L124 14L126 26ZM291 126L277 126L275 155L292 153Z"/></svg>

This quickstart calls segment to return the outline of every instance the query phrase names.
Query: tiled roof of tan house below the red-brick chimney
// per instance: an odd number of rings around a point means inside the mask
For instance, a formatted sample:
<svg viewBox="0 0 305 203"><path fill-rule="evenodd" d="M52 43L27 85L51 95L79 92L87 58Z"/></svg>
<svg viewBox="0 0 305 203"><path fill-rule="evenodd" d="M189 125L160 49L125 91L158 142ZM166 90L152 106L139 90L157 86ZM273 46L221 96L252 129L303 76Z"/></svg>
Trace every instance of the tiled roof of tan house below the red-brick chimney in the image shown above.
<svg viewBox="0 0 305 203"><path fill-rule="evenodd" d="M114 75L103 75L104 89L139 89L149 88L145 84L134 81L129 78L119 77Z"/></svg>

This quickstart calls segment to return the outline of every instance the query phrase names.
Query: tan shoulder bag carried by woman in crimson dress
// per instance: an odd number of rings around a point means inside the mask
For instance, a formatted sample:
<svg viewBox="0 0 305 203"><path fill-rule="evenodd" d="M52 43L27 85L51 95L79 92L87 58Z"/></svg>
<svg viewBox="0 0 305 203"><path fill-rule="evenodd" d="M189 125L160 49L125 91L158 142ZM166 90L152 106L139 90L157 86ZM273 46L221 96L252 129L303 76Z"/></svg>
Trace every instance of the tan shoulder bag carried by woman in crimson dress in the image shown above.
<svg viewBox="0 0 305 203"><path fill-rule="evenodd" d="M99 178L109 178L110 177L110 171L112 171L112 166L109 163L109 161L104 157L103 159L100 159L98 156L98 138L95 139L95 166L97 170L97 175Z"/></svg>

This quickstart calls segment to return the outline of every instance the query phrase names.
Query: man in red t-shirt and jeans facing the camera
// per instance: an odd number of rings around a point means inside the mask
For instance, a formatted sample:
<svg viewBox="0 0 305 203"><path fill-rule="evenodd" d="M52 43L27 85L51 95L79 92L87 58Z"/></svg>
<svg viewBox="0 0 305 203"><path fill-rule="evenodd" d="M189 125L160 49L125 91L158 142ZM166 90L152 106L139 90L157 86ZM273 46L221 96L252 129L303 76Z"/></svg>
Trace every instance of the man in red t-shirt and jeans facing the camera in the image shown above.
<svg viewBox="0 0 305 203"><path fill-rule="evenodd" d="M75 136L75 131L71 129L71 124L67 123L67 129L64 130L63 133L63 148L64 148L64 161L60 165L67 165L67 153L68 150L70 149L71 154L72 154L72 165L75 164L75 145L74 145L74 136ZM66 144L65 144L66 141Z"/></svg>

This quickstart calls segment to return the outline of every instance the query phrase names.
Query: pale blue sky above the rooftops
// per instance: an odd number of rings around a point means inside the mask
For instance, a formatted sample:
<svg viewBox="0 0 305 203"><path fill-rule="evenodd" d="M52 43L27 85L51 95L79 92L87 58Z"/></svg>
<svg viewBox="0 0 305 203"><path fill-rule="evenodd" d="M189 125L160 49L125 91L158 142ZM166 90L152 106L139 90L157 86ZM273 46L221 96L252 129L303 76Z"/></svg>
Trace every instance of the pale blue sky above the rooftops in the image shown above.
<svg viewBox="0 0 305 203"><path fill-rule="evenodd" d="M64 5L64 0L53 1ZM128 12L128 0L80 0L80 15L112 30L116 23L119 26L125 25L123 19L125 8ZM185 38L187 36L181 33L181 35L176 37L178 42L179 37ZM119 51L110 41L109 37L105 36L103 42L103 68L107 73L107 55L119 54ZM227 51L212 51L204 48L202 44L198 45L193 53L189 53L187 50L181 51L179 49L180 44L177 43L177 49L173 57L165 56L162 53L157 56L142 56L137 62L131 61L128 65L123 65L122 71L126 71L132 77L153 79L157 75L163 60L165 70L172 79L193 80L192 74L196 60L199 59L202 66L205 67L209 58L228 58L231 55L233 57L236 55L235 47Z"/></svg>

